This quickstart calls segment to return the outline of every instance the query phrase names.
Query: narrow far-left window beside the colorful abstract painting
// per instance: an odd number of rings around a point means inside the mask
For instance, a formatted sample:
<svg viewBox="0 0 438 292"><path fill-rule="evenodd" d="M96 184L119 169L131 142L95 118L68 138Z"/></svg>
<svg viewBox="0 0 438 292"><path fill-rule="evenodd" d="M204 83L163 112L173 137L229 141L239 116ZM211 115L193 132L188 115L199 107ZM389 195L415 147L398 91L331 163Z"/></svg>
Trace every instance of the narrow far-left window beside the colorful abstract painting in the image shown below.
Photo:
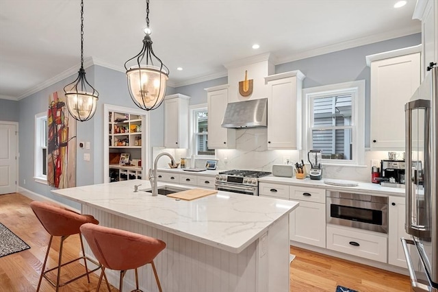
<svg viewBox="0 0 438 292"><path fill-rule="evenodd" d="M47 184L47 113L35 116L35 171L36 182Z"/></svg>

